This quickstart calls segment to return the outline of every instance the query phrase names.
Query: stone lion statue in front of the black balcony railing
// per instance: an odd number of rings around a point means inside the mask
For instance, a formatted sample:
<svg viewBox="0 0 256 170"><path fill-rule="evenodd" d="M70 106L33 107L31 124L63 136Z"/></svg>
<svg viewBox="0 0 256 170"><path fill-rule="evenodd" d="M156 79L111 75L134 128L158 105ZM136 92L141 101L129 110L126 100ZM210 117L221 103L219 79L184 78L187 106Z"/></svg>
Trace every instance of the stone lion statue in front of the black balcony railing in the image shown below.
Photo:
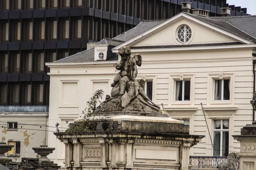
<svg viewBox="0 0 256 170"><path fill-rule="evenodd" d="M221 162L218 170L239 170L238 156L236 156L236 153L232 152L228 154L227 160Z"/></svg>

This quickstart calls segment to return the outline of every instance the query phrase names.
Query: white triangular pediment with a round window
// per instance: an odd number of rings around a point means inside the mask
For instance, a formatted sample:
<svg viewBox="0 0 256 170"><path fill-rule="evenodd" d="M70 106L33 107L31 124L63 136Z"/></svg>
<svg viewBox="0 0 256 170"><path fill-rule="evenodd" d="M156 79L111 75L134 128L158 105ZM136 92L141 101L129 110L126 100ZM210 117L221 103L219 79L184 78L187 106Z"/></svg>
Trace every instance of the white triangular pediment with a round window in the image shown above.
<svg viewBox="0 0 256 170"><path fill-rule="evenodd" d="M148 21L150 22L150 21ZM190 28L191 36L186 42L178 36L178 31L182 26ZM182 35L184 37L184 35ZM180 38L180 39L179 39ZM208 23L197 20L196 18L180 13L175 17L145 31L143 34L113 48L119 49L121 46L128 45L130 47L145 46L176 46L176 45L198 45L202 44L232 44L232 43L251 44L252 42L245 40L239 36L231 34L220 28L214 27Z"/></svg>

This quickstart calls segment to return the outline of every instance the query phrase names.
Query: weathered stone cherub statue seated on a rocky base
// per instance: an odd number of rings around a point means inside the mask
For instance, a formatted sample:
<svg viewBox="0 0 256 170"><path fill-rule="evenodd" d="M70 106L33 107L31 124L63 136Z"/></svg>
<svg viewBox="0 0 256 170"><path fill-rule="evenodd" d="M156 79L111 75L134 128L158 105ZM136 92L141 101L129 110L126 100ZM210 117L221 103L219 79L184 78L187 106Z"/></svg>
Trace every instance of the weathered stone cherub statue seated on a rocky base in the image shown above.
<svg viewBox="0 0 256 170"><path fill-rule="evenodd" d="M106 100L96 109L96 112L143 111L162 113L160 107L145 94L143 83L136 80L137 65L141 66L142 63L140 54L131 57L131 49L128 46L121 47L119 54L122 60L114 66L120 72L116 74L111 84L113 87L111 97L106 96Z"/></svg>

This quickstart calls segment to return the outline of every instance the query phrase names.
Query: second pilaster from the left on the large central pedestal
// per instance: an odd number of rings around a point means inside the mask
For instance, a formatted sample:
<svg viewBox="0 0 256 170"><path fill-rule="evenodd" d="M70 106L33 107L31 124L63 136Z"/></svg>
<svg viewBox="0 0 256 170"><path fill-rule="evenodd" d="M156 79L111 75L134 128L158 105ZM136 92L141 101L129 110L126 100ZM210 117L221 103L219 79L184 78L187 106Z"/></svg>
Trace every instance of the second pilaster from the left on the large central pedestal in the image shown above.
<svg viewBox="0 0 256 170"><path fill-rule="evenodd" d="M81 167L80 161L82 161L82 144L78 141L78 139L73 139L72 143L74 144L74 167Z"/></svg>

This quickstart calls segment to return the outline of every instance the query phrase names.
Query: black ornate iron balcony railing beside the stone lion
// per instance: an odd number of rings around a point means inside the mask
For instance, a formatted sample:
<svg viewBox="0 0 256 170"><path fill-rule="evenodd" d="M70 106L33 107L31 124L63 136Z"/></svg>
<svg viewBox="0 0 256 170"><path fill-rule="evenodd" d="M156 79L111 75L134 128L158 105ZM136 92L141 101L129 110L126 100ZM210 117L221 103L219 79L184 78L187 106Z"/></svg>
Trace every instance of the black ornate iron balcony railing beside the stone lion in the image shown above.
<svg viewBox="0 0 256 170"><path fill-rule="evenodd" d="M218 165L226 159L226 156L189 156L190 164L196 168L218 168ZM240 167L240 158L238 167Z"/></svg>

